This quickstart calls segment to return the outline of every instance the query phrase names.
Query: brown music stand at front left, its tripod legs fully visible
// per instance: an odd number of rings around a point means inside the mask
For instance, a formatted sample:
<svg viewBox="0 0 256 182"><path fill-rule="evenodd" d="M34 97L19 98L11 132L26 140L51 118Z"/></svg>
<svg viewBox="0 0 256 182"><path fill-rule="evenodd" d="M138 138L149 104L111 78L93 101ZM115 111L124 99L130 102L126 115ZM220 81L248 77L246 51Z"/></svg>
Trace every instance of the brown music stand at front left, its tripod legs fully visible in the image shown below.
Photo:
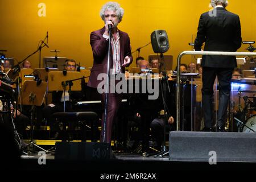
<svg viewBox="0 0 256 182"><path fill-rule="evenodd" d="M43 104L44 97L46 96L46 86L47 83L42 81L38 84L37 81L26 80L24 81L22 90L21 90L21 98L23 105L31 105L31 134L30 134L30 143L27 144L28 146L38 147L40 150L47 152L42 147L39 147L33 138L34 134L34 121L35 121L35 106L41 106ZM35 149L33 148L33 151Z"/></svg>

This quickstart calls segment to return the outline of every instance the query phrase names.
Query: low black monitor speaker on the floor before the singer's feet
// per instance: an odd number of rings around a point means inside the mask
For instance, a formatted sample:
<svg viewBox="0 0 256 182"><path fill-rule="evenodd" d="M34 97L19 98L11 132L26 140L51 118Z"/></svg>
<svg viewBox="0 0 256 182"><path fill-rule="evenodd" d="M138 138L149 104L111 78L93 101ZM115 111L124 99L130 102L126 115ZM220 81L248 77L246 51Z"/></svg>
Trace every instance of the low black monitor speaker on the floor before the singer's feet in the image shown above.
<svg viewBox="0 0 256 182"><path fill-rule="evenodd" d="M108 160L112 159L110 143L56 142L56 160Z"/></svg>

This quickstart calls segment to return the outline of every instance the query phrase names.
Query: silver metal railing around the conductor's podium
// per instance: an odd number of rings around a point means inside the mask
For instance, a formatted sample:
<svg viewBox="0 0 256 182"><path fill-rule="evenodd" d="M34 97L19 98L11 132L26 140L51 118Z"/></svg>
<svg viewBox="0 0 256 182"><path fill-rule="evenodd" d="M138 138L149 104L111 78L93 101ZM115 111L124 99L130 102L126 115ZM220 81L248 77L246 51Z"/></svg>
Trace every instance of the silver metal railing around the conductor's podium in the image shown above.
<svg viewBox="0 0 256 182"><path fill-rule="evenodd" d="M220 52L220 51L183 51L177 57L176 77L176 130L180 129L180 60L184 55L212 55L212 56L256 56L254 52Z"/></svg>

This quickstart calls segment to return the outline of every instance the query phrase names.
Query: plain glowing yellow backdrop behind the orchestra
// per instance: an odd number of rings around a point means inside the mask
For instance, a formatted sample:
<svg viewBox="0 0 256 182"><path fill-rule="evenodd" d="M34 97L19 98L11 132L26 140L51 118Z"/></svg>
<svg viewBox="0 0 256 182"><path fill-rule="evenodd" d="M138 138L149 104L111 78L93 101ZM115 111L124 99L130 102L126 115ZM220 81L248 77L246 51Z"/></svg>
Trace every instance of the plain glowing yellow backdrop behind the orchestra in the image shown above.
<svg viewBox="0 0 256 182"><path fill-rule="evenodd" d="M89 44L90 32L104 26L99 12L108 1L85 0L1 0L0 1L0 49L7 49L7 57L22 60L36 51L39 40L49 32L49 48L42 49L42 57L58 56L75 59L85 67L93 63ZM208 0L120 0L125 15L119 29L130 35L132 51L150 42L154 30L166 30L170 49L165 55L174 56L191 50L188 43L195 39L200 14L209 10ZM44 3L44 6L42 4ZM255 0L229 0L229 11L240 15L243 40L256 40ZM45 15L45 16L44 16ZM245 51L243 45L239 51ZM141 56L153 54L151 45L141 49ZM138 56L133 53L134 58ZM184 57L189 63L191 56ZM39 66L39 53L31 56L32 66ZM42 63L42 61L41 61ZM42 64L43 65L43 64ZM135 63L133 63L133 66Z"/></svg>

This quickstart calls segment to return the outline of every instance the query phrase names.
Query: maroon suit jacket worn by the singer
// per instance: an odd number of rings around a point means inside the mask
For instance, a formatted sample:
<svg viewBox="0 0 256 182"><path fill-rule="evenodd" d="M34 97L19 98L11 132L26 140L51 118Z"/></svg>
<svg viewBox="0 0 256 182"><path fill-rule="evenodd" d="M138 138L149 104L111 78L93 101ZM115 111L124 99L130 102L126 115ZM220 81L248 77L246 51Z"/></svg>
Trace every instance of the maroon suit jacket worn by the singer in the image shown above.
<svg viewBox="0 0 256 182"><path fill-rule="evenodd" d="M93 51L93 67L90 70L90 77L88 81L88 86L92 88L97 88L101 80L97 80L97 77L100 73L107 73L108 68L108 40L103 38L105 28L100 30L93 31L90 34L90 45L92 46ZM130 64L133 61L133 56L131 56L131 46L130 38L126 32L119 31L119 41L120 41L120 61L121 65L126 56L129 56L131 59ZM110 50L110 69L113 68L113 56L112 49ZM129 65L130 65L129 64ZM126 66L129 66L126 65ZM125 68L122 68L122 73L125 73Z"/></svg>

